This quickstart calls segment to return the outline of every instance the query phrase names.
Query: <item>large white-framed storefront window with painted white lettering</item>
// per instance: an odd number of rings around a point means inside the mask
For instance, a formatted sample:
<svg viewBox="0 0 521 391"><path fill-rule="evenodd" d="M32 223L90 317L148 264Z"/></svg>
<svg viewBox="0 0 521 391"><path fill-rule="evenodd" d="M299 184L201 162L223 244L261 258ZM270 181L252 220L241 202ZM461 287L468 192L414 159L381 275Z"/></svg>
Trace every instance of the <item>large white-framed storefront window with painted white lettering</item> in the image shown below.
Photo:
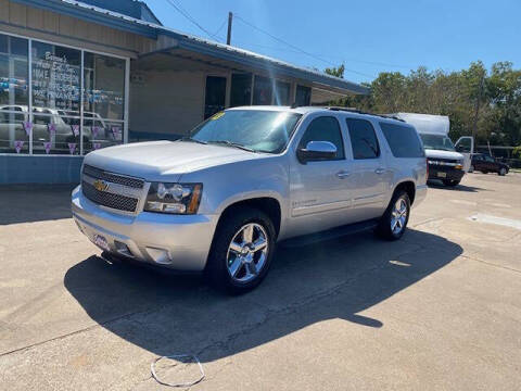
<svg viewBox="0 0 521 391"><path fill-rule="evenodd" d="M79 155L123 143L127 61L0 34L0 153Z"/></svg>

